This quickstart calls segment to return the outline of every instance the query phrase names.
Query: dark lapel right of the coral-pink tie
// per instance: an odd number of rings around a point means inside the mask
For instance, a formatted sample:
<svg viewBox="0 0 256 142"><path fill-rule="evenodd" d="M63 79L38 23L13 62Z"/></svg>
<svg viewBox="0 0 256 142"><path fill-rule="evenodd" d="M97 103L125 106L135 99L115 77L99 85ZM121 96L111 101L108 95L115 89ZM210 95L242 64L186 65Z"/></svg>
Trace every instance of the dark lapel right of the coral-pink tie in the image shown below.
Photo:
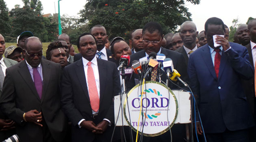
<svg viewBox="0 0 256 142"><path fill-rule="evenodd" d="M98 70L99 70L99 76L100 76L100 103L102 102L104 90L106 86L106 65L101 62L100 59L97 58L98 62Z"/></svg>

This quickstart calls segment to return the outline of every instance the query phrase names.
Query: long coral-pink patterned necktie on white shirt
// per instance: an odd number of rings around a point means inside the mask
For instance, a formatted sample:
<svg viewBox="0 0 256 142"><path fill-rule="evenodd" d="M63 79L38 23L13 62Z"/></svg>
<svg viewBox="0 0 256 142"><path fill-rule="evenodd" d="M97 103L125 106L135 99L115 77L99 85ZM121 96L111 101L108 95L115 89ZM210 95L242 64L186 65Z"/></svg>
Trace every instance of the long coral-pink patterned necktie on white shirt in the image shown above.
<svg viewBox="0 0 256 142"><path fill-rule="evenodd" d="M100 107L100 99L98 95L98 90L95 82L95 77L93 73L93 69L91 67L91 62L88 62L88 69L87 69L87 79L88 79L88 90L89 90L89 97L91 102L91 109L94 112L98 112Z"/></svg>

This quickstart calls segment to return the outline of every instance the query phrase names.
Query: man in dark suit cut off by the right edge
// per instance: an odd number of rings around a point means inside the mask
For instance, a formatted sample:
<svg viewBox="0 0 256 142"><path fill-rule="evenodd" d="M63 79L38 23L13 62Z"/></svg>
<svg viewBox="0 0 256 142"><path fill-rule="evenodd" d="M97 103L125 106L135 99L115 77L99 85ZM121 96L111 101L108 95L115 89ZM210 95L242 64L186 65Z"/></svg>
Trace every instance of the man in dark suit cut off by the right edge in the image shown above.
<svg viewBox="0 0 256 142"><path fill-rule="evenodd" d="M249 29L249 37L251 41L249 44L245 45L245 47L248 50L249 54L249 62L251 63L252 67L254 67L255 71L255 62L256 62L256 19L253 19L249 21L248 23L248 29ZM255 77L255 76L254 76ZM252 111L252 114L254 116L254 122L256 122L256 109L255 109L255 87L254 87L254 77L251 80L242 80L243 81L243 88L245 91L245 95L247 98L247 101L249 103L249 107ZM249 130L249 138L250 142L255 142L256 141L256 127L254 126L252 129Z"/></svg>

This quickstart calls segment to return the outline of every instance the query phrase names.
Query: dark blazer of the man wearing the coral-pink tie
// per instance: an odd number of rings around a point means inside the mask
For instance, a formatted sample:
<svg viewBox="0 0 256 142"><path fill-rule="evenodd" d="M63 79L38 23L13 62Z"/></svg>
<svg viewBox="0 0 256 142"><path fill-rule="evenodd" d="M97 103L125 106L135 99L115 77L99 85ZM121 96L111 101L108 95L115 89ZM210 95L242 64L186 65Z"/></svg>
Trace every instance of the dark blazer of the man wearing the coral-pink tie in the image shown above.
<svg viewBox="0 0 256 142"><path fill-rule="evenodd" d="M100 139L110 142L113 124L102 135L95 135L85 128L79 128L78 122L82 119L92 120L96 125L104 118L115 123L113 97L120 90L117 66L113 62L98 59L100 75L100 108L98 117L92 119L89 93L85 79L82 58L64 68L62 80L62 105L63 110L72 122L73 142L92 142Z"/></svg>

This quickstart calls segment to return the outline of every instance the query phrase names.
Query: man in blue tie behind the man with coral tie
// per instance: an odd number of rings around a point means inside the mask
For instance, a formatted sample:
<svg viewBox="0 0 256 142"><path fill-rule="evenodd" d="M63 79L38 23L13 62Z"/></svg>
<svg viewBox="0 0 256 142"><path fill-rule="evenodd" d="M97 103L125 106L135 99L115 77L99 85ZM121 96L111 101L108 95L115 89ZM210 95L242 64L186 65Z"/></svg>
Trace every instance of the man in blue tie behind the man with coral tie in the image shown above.
<svg viewBox="0 0 256 142"><path fill-rule="evenodd" d="M109 60L115 62L115 59L112 58L112 53L110 49L105 47L107 42L108 35L106 34L106 29L102 25L95 25L91 28L90 33L95 37L97 44L97 53L96 57L103 60ZM78 53L74 56L74 62L82 58L81 53Z"/></svg>

